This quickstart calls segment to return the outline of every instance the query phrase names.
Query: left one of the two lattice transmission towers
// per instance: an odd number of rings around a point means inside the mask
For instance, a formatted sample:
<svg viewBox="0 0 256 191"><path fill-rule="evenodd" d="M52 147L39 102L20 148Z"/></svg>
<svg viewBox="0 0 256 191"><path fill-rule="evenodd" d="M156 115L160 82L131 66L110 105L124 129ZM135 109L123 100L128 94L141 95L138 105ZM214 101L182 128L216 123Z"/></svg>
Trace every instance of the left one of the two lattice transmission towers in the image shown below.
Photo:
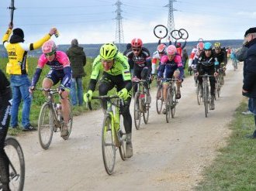
<svg viewBox="0 0 256 191"><path fill-rule="evenodd" d="M122 25L122 15L121 15L121 5L123 3L120 2L119 0L117 0L117 2L115 3L116 5L116 44L117 44L117 47L119 49L119 51L123 51L123 47L122 47L122 43L124 42L124 39L123 39L123 25Z"/></svg>

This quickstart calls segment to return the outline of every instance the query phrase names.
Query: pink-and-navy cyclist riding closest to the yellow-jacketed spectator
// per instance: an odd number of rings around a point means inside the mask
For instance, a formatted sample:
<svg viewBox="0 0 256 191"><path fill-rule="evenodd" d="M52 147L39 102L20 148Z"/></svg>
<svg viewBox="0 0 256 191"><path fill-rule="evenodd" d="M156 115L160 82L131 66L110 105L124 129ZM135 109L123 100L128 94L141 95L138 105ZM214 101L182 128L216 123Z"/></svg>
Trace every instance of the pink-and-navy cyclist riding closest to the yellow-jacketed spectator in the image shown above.
<svg viewBox="0 0 256 191"><path fill-rule="evenodd" d="M49 40L42 46L43 54L38 60L36 67L36 72L33 76L31 87L29 92L32 93L36 87L36 83L40 78L40 74L43 67L47 64L50 67L50 72L47 77L43 79L43 88L50 89L52 86L61 81L61 86L59 87L59 94L61 95L61 111L64 118L64 127L61 131L61 136L68 135L68 121L69 121L69 104L68 95L71 88L71 75L72 70L70 66L70 61L67 54L62 51L57 51L54 41Z"/></svg>

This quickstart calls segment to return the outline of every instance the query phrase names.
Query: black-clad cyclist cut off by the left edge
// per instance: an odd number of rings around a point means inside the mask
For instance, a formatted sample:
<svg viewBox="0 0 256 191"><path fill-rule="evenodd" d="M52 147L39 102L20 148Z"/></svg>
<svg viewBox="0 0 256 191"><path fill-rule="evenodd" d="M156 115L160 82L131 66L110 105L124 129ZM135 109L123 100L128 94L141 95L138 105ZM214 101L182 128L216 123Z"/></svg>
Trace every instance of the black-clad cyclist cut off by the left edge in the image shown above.
<svg viewBox="0 0 256 191"><path fill-rule="evenodd" d="M9 128L12 108L12 90L5 74L0 70L0 179L2 191L9 191L9 159L5 154L5 137Z"/></svg>

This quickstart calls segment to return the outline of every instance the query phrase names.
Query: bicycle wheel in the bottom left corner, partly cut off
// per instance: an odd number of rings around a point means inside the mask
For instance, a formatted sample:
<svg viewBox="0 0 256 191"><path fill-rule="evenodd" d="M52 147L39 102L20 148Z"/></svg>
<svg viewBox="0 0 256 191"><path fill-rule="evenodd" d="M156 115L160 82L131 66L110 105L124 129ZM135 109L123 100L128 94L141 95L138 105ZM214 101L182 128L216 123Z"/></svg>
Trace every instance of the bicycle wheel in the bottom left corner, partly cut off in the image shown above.
<svg viewBox="0 0 256 191"><path fill-rule="evenodd" d="M9 157L9 186L11 190L23 190L25 182L25 161L22 148L16 138L5 139L5 152Z"/></svg>

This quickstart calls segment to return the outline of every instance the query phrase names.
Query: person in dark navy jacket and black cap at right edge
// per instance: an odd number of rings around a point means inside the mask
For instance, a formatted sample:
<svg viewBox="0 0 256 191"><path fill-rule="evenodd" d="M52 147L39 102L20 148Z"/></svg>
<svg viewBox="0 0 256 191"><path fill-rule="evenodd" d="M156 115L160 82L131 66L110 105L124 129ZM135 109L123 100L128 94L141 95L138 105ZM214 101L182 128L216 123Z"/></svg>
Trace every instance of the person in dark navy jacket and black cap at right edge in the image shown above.
<svg viewBox="0 0 256 191"><path fill-rule="evenodd" d="M254 114L254 121L256 126L256 27L247 29L244 34L247 39L245 45L247 53L245 56L246 66L244 68L244 85L243 95L249 97L248 107ZM248 138L256 138L256 130Z"/></svg>

